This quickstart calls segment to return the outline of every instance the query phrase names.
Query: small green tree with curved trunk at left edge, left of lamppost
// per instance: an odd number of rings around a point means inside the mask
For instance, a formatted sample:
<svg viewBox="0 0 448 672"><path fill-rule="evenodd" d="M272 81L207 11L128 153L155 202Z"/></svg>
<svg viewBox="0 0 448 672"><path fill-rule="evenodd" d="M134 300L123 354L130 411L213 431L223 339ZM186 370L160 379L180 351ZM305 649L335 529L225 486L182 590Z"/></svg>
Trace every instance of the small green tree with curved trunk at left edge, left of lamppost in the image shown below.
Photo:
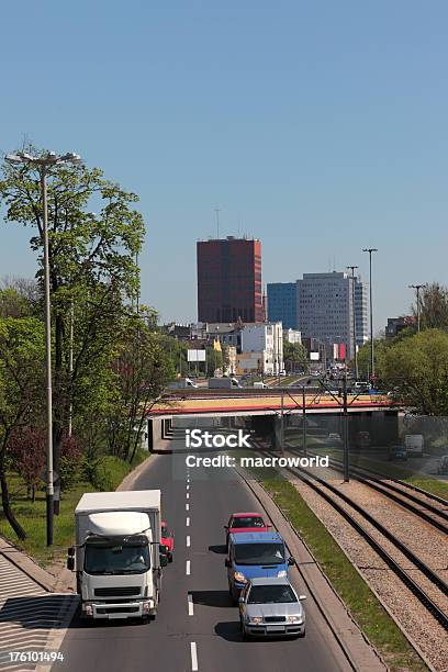
<svg viewBox="0 0 448 672"><path fill-rule="evenodd" d="M44 405L44 325L35 317L0 318L0 486L3 513L20 539L26 537L11 507L8 449L24 426L38 425Z"/></svg>

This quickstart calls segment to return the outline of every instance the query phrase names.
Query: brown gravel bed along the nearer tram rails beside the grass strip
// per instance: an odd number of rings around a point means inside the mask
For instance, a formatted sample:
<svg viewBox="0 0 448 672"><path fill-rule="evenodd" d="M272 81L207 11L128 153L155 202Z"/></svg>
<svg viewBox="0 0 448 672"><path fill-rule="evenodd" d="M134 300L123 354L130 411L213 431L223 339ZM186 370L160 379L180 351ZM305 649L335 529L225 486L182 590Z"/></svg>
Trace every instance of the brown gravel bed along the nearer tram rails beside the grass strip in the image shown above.
<svg viewBox="0 0 448 672"><path fill-rule="evenodd" d="M448 637L444 628L400 579L395 576L385 562L377 556L367 541L359 537L354 528L331 506L331 504L322 500L316 492L299 479L295 479L292 474L288 473L287 478L294 484L315 515L335 537L350 561L358 568L383 604L391 611L410 640L414 641L422 650L434 670L437 670L437 672L448 672ZM356 485L360 484L356 483ZM347 488L347 485L345 488ZM348 489L345 490L345 492L351 496L351 492L348 492ZM335 496L332 493L329 494L332 497ZM354 512L351 507L340 500L338 500L338 503L349 511L357 520L361 522L362 526L366 527L374 539L381 541L385 550L400 562L403 569L408 571L414 581L416 581L434 601L436 601L437 596L437 604L439 607L444 608L444 611L448 611L446 596L444 596L437 587L433 586L418 570L410 570L412 563L407 558L404 558L402 553L397 551L391 542L384 539L374 527L367 523L360 514ZM376 515L370 507L369 513ZM413 533L410 536L416 535L416 527L419 524L415 522L414 517ZM410 538L406 538L405 542L410 545ZM434 549L426 550L429 555L433 555ZM422 552L419 557L429 564L429 558L425 558ZM447 556L445 556L445 565L446 558Z"/></svg>

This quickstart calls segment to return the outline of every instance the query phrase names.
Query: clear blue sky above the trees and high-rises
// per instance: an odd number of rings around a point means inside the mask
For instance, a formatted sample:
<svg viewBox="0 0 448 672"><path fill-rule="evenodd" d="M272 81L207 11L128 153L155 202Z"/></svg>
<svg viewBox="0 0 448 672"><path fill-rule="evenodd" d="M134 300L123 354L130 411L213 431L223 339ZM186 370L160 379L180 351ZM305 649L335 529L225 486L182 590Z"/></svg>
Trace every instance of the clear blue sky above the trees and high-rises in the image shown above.
<svg viewBox="0 0 448 672"><path fill-rule="evenodd" d="M0 150L24 135L141 195L143 301L194 320L195 240L262 242L264 282L374 246L374 322L448 284L448 4L16 0L2 10ZM1 224L0 277L32 276Z"/></svg>

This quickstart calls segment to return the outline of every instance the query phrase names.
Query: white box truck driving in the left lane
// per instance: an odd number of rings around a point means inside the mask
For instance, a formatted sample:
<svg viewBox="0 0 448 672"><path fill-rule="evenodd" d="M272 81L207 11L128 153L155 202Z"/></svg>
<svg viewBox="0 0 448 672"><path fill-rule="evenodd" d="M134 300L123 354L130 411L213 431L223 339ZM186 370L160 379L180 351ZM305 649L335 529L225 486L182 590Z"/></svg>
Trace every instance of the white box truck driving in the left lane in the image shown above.
<svg viewBox="0 0 448 672"><path fill-rule="evenodd" d="M81 614L97 618L154 618L161 587L160 490L89 492L75 509L76 571Z"/></svg>

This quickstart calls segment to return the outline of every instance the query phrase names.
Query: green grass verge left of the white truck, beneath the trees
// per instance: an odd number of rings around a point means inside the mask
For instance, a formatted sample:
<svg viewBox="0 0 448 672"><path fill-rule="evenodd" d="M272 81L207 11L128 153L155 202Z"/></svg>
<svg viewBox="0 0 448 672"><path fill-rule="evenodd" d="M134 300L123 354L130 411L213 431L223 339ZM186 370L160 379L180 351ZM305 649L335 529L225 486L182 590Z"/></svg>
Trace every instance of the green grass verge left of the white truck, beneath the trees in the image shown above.
<svg viewBox="0 0 448 672"><path fill-rule="evenodd" d="M124 477L147 457L146 452L136 453L131 464L120 458L107 456L101 462L101 486L94 488L87 481L76 483L70 490L63 493L60 513L54 518L54 546L46 546L46 501L45 492L37 491L35 502L26 497L26 485L15 473L9 477L11 504L15 517L24 528L27 537L20 541L3 513L0 513L0 535L11 544L32 556L42 567L47 567L64 557L67 547L74 542L75 519L74 511L85 492L99 490L115 490Z"/></svg>

